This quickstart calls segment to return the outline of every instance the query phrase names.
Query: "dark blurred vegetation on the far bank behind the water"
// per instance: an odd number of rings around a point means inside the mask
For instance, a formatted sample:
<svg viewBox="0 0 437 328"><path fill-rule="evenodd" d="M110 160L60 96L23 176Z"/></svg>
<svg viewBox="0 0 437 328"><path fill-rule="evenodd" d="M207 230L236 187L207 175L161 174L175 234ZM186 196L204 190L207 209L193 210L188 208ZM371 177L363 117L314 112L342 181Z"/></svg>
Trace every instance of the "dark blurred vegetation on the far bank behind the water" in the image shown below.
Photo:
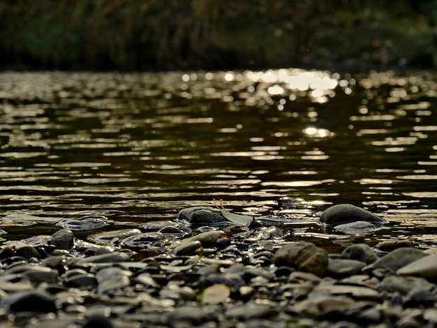
<svg viewBox="0 0 437 328"><path fill-rule="evenodd" d="M437 0L3 0L0 67L434 67Z"/></svg>

